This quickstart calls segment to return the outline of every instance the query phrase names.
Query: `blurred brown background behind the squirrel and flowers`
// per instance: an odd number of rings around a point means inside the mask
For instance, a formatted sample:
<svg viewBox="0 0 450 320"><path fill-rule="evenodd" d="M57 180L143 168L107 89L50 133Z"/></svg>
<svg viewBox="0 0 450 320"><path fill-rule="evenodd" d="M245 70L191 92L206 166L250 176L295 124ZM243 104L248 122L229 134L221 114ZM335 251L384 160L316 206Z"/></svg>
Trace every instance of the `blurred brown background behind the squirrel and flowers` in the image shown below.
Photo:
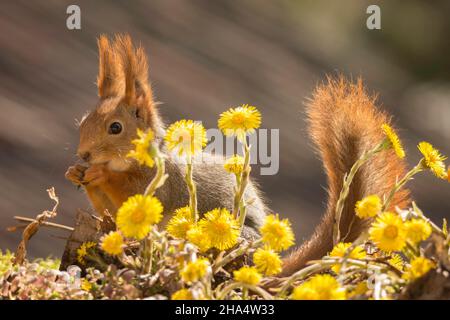
<svg viewBox="0 0 450 320"><path fill-rule="evenodd" d="M81 7L82 30L66 28L66 8ZM366 8L381 7L382 30L366 28ZM0 248L14 249L14 215L53 204L72 225L88 208L64 179L75 161L75 119L95 104L96 37L128 32L150 58L167 122L216 126L229 106L252 103L263 127L280 128L280 171L258 177L271 208L289 217L297 242L326 201L321 163L307 138L303 102L326 73L361 75L403 129L409 162L429 140L450 154L450 2L435 1L7 1L0 5ZM257 170L255 170L257 171ZM430 174L414 197L436 222L450 217L450 185ZM60 256L64 236L42 229L31 256Z"/></svg>

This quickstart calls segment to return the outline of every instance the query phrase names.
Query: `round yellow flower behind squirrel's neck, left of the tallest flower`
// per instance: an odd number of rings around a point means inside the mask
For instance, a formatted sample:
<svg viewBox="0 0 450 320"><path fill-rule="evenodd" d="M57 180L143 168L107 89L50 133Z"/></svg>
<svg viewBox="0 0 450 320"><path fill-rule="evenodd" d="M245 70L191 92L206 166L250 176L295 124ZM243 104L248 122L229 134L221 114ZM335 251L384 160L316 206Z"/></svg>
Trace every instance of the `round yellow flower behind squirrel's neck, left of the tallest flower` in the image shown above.
<svg viewBox="0 0 450 320"><path fill-rule="evenodd" d="M170 151L179 156L192 156L201 151L207 143L206 130L199 122L180 120L167 129L165 140Z"/></svg>

